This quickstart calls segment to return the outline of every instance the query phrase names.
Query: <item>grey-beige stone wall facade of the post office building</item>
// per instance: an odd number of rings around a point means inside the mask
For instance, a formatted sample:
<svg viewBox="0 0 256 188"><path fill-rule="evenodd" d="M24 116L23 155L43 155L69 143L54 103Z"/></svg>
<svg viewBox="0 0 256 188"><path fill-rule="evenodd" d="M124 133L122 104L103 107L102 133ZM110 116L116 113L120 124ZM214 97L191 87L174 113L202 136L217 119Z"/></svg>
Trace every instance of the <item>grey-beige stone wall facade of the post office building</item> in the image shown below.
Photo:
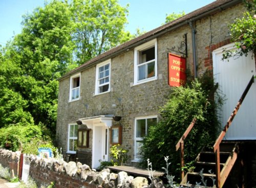
<svg viewBox="0 0 256 188"><path fill-rule="evenodd" d="M196 20L196 57L198 75L206 69L212 70L213 50L229 43L228 23L242 15L245 8L242 4L226 10L212 13ZM120 122L112 122L112 126L122 125L122 146L129 150L129 160L133 163L135 118L141 116L159 116L159 107L163 106L171 92L168 85L167 53L173 46L179 46L187 33L186 65L193 77L193 47L191 28L187 24L157 37L157 79L134 85L134 49L111 58L111 91L95 95L96 65L84 68L81 74L80 100L69 102L70 78L59 80L57 141L63 152L67 151L68 125L75 124L78 119L97 115L113 114L121 116ZM99 61L98 63L101 63ZM189 75L189 74L188 74ZM90 131L89 148L82 149L92 152L93 131ZM108 142L110 142L108 140ZM109 145L110 147L111 145Z"/></svg>

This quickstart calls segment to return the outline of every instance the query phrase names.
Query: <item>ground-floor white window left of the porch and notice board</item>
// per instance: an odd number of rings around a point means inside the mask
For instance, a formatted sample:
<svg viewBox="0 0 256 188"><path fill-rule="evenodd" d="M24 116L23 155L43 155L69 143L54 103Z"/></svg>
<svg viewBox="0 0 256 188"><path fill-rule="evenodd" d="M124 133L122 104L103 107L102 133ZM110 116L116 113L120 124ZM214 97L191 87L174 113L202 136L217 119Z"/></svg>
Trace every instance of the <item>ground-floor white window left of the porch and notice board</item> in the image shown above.
<svg viewBox="0 0 256 188"><path fill-rule="evenodd" d="M69 125L68 132L68 153L76 153L78 125Z"/></svg>

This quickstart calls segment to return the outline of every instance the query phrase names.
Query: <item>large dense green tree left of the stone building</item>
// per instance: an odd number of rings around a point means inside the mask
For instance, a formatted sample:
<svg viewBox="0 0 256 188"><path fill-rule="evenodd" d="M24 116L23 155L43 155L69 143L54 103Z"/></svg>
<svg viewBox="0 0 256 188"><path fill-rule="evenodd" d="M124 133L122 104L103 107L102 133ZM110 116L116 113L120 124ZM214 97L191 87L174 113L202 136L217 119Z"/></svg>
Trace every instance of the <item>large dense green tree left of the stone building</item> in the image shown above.
<svg viewBox="0 0 256 188"><path fill-rule="evenodd" d="M2 49L0 126L44 124L55 132L58 82L73 63L71 12L52 1L23 18L23 30Z"/></svg>

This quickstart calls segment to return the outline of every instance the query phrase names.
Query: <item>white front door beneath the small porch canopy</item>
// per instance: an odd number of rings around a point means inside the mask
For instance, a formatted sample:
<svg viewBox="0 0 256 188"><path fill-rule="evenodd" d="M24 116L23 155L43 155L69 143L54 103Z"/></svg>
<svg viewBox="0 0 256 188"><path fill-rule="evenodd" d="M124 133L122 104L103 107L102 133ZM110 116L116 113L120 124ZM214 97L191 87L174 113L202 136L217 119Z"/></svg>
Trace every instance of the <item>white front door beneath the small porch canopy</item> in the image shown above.
<svg viewBox="0 0 256 188"><path fill-rule="evenodd" d="M108 127L102 124L94 124L93 126L93 155L92 155L92 168L98 168L101 161L108 160Z"/></svg>

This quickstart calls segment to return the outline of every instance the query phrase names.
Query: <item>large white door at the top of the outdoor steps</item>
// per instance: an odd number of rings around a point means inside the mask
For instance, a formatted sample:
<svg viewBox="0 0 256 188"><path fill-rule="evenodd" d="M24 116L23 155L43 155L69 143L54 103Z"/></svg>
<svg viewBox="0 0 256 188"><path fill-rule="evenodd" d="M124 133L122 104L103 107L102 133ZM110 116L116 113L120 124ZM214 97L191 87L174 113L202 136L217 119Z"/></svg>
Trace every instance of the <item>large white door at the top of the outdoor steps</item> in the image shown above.
<svg viewBox="0 0 256 188"><path fill-rule="evenodd" d="M229 58L222 61L223 48L233 49L228 44L212 53L214 62L214 78L224 95L224 105L219 111L220 121L224 126L237 105L250 78L255 74L255 61L251 54L247 57ZM229 140L256 139L256 79L252 84L242 106L228 129L225 138Z"/></svg>

